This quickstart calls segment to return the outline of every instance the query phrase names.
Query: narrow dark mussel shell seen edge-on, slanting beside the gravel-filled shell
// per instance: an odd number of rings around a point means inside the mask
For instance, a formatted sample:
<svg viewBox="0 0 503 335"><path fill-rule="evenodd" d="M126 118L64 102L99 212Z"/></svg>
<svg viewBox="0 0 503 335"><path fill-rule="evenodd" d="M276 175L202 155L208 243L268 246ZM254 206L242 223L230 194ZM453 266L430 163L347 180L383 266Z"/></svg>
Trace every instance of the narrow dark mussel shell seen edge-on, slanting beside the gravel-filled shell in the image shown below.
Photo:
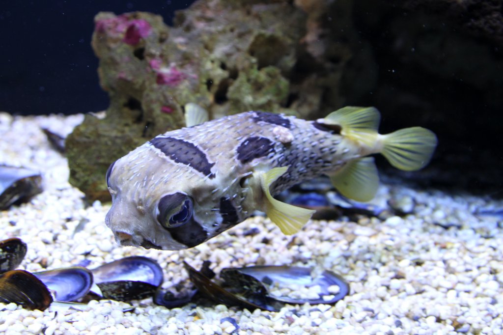
<svg viewBox="0 0 503 335"><path fill-rule="evenodd" d="M186 262L184 262L184 267L189 273L190 280L197 287L199 292L214 302L222 303L227 306L239 306L249 310L259 308L270 311L278 311L281 307L277 304L275 305L275 301L271 301L266 296L263 297L264 299L256 299L256 301L253 302L245 300L235 293L225 290L220 285L212 282L208 277L191 267Z"/></svg>

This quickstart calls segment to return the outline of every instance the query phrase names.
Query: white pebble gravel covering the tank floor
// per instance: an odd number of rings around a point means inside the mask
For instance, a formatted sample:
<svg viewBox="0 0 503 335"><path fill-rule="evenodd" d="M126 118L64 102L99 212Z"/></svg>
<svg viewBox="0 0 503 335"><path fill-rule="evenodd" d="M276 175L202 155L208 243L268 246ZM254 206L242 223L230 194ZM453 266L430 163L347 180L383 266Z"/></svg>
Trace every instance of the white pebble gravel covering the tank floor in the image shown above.
<svg viewBox="0 0 503 335"><path fill-rule="evenodd" d="M181 252L120 247L104 223L110 204L95 202L86 207L82 193L67 182L65 158L50 147L39 129L66 134L81 119L81 115L0 113L0 163L36 169L44 178L42 194L0 215L0 239L17 236L28 243L22 269L54 269L83 260L91 261L93 268L141 255L159 262L163 286L170 288L188 280L183 260L195 268L209 260L216 273L225 267L290 264L339 273L350 283L351 293L334 306L287 305L279 312L194 304L167 309L155 306L151 299L130 304L91 301L83 311L54 307L29 311L0 304L0 332L503 333L501 217L473 214L479 208L501 209L503 201L416 191L395 182L381 186L375 203L401 201L413 208L404 217L313 220L294 236L284 236L269 220L255 217ZM453 226L445 229L439 224ZM254 227L258 234L243 235ZM133 311L123 312L130 307Z"/></svg>

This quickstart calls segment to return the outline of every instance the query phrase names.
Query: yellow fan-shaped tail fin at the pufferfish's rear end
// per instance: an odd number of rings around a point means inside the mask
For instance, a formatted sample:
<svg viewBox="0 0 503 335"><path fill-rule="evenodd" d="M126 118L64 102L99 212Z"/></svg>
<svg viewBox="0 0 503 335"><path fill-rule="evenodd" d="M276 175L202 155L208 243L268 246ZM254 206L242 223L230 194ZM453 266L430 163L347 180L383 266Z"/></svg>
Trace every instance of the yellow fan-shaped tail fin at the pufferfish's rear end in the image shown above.
<svg viewBox="0 0 503 335"><path fill-rule="evenodd" d="M400 129L381 135L381 153L391 165L404 171L419 170L432 158L437 136L422 127Z"/></svg>

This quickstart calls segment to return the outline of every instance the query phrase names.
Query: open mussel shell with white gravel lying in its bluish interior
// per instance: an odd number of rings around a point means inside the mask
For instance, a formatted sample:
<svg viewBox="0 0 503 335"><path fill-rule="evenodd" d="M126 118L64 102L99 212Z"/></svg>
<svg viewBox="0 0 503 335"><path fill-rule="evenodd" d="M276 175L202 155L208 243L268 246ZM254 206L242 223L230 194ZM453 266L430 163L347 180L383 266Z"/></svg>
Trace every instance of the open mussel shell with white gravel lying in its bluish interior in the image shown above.
<svg viewBox="0 0 503 335"><path fill-rule="evenodd" d="M319 285L324 291L318 299L302 299L290 297L277 297L268 295L269 298L285 303L292 304L319 304L319 303L334 303L344 298L349 292L349 285L341 277L331 271L323 271L320 276L311 277L311 269L301 267L288 266L257 266L237 269L223 269L220 277L225 281L226 285L240 287L247 291L247 299L250 297L261 296L266 294L267 286L262 283L273 284L282 283L282 286L288 286L289 283L295 285L303 285L304 287L312 287ZM337 294L328 292L328 287L337 285L340 290ZM323 298L325 296L325 298ZM330 298L327 298L330 297Z"/></svg>

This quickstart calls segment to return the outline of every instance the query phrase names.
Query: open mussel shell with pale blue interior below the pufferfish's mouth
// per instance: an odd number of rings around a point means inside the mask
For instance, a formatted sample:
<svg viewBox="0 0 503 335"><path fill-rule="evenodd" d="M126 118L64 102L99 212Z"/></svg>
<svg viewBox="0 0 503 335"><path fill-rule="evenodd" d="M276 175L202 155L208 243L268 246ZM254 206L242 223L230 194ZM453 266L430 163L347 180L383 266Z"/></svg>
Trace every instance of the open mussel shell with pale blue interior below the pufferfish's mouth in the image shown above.
<svg viewBox="0 0 503 335"><path fill-rule="evenodd" d="M126 257L107 263L91 272L101 290L101 295L106 299L119 301L152 296L163 280L159 264L141 256Z"/></svg>

